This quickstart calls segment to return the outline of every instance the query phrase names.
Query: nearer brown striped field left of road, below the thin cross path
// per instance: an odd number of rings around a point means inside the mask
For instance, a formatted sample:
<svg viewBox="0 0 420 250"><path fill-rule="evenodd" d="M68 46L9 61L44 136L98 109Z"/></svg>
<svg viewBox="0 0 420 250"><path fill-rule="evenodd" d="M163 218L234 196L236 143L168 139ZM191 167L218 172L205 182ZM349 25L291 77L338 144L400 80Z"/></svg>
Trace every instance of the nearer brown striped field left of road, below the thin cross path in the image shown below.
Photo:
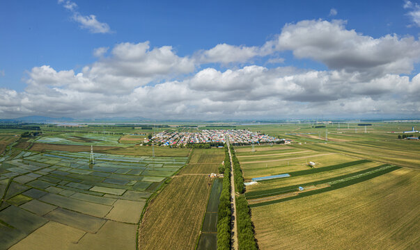
<svg viewBox="0 0 420 250"><path fill-rule="evenodd" d="M146 208L139 249L194 249L205 213L199 204L206 203L210 182L207 176L172 178Z"/></svg>

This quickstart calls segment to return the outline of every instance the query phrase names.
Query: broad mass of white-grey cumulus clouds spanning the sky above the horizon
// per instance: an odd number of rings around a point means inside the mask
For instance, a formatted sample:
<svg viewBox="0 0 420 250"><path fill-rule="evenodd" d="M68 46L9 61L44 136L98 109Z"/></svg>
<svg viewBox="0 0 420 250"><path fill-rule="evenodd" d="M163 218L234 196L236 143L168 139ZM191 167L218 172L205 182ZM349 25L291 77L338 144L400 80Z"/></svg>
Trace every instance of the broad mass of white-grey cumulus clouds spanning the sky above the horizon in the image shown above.
<svg viewBox="0 0 420 250"><path fill-rule="evenodd" d="M336 20L286 24L260 47L217 44L192 56L171 46L122 42L93 51L81 70L54 65L26 72L22 92L0 89L0 115L142 116L233 119L307 115L420 115L419 41L372 38ZM280 57L311 58L326 70L288 67ZM251 60L265 58L264 67ZM221 70L205 65L244 63ZM201 65L208 67L201 68ZM222 67L223 68L223 67Z"/></svg>

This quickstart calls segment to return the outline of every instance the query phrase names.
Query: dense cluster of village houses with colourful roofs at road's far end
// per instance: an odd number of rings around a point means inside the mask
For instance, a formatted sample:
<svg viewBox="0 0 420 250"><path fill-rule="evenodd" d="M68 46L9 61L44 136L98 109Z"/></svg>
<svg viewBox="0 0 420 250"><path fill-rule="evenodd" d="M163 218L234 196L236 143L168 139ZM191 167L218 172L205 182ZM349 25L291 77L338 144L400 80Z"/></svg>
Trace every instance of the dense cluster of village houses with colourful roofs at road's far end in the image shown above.
<svg viewBox="0 0 420 250"><path fill-rule="evenodd" d="M200 132L163 131L153 136L153 142L163 146L180 146L196 143L221 143L226 141L226 136L232 144L260 144L279 143L283 139L274 138L247 130L203 130Z"/></svg>

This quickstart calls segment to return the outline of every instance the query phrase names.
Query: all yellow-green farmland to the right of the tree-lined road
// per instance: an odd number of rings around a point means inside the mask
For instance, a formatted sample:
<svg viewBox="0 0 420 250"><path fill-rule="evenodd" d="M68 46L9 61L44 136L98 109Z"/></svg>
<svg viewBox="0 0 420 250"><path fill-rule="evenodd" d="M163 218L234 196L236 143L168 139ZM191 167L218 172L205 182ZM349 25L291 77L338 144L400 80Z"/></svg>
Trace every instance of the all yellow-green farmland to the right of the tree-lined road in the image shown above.
<svg viewBox="0 0 420 250"><path fill-rule="evenodd" d="M247 181L290 174L247 186L260 249L419 248L420 144L390 133L412 124L343 125L328 141L308 124L259 126L293 143L235 148Z"/></svg>

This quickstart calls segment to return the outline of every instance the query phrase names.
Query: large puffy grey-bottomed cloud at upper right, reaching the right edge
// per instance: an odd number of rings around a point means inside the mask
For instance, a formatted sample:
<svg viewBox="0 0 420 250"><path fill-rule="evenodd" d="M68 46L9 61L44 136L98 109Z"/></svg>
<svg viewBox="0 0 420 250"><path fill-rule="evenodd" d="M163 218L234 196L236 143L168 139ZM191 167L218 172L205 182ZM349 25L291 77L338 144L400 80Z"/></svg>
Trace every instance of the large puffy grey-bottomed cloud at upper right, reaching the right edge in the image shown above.
<svg viewBox="0 0 420 250"><path fill-rule="evenodd" d="M411 36L372 38L346 29L342 20L286 24L277 40L270 42L278 51L290 50L297 58L311 58L348 72L409 74L420 58L420 43Z"/></svg>

